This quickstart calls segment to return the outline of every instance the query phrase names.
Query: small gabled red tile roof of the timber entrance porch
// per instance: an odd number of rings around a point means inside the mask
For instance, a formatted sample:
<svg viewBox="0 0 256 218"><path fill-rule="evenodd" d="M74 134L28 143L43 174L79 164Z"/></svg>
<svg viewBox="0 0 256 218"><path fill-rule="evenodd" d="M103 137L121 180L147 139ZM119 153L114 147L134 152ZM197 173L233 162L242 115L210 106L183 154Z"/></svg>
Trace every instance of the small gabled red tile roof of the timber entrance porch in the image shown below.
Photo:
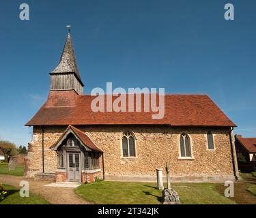
<svg viewBox="0 0 256 218"><path fill-rule="evenodd" d="M69 125L68 128L63 132L63 134L61 135L61 137L59 138L59 140L53 144L53 146L51 146L51 148L53 148L54 146L56 146L61 139L63 138L63 136L65 136L66 132L72 129L72 131L74 132L74 134L76 135L76 137L79 138L79 140L81 140L81 142L83 142L83 144L87 147L89 147L89 149L93 150L93 151L98 151L100 153L102 153L103 151L98 148L98 146L96 146L96 144L94 144L94 142L91 141L91 139L87 136L87 134L85 134L84 131L81 131L80 129L77 129L76 127L73 127L72 125Z"/></svg>

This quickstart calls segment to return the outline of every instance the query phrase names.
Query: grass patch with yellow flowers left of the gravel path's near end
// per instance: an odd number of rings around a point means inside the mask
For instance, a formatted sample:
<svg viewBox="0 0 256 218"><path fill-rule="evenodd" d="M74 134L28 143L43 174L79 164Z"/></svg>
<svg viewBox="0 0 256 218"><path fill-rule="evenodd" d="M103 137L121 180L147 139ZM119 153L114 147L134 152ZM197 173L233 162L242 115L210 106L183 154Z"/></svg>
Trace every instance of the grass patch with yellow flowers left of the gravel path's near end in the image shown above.
<svg viewBox="0 0 256 218"><path fill-rule="evenodd" d="M7 196L0 204L50 204L41 196L29 193L29 198L21 198L19 190L10 185L3 185L3 189L7 191Z"/></svg>

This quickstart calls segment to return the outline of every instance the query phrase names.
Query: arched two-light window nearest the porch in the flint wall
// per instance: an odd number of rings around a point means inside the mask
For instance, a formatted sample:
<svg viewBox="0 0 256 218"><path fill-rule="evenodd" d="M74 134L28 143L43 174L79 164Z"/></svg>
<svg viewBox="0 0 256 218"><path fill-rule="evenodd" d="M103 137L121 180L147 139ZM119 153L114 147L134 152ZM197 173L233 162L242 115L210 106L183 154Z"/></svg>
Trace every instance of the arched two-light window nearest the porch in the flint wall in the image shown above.
<svg viewBox="0 0 256 218"><path fill-rule="evenodd" d="M135 157L135 138L130 131L126 131L122 136L123 157Z"/></svg>

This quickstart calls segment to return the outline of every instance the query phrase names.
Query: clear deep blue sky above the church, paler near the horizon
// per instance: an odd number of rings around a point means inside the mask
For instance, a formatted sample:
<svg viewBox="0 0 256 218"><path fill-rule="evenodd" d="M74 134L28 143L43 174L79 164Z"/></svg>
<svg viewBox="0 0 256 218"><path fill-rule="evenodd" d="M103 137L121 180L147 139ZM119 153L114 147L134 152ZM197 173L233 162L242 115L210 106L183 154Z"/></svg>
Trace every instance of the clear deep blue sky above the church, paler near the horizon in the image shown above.
<svg viewBox="0 0 256 218"><path fill-rule="evenodd" d="M20 3L30 20L19 19ZM235 20L224 19L225 3ZM237 134L256 137L255 11L255 0L1 0L0 138L31 139L24 125L46 100L69 23L85 93L106 82L206 93Z"/></svg>

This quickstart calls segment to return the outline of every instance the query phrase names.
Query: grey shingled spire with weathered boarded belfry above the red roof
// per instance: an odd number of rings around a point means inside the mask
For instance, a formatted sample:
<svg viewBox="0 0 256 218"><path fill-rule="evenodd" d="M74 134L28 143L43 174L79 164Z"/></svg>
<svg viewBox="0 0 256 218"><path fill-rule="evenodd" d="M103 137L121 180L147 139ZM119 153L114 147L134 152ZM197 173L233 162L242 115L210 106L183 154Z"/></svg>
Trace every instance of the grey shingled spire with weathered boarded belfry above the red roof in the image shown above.
<svg viewBox="0 0 256 218"><path fill-rule="evenodd" d="M83 82L76 65L71 35L68 33L59 65L50 73L51 91L74 90L83 94Z"/></svg>

